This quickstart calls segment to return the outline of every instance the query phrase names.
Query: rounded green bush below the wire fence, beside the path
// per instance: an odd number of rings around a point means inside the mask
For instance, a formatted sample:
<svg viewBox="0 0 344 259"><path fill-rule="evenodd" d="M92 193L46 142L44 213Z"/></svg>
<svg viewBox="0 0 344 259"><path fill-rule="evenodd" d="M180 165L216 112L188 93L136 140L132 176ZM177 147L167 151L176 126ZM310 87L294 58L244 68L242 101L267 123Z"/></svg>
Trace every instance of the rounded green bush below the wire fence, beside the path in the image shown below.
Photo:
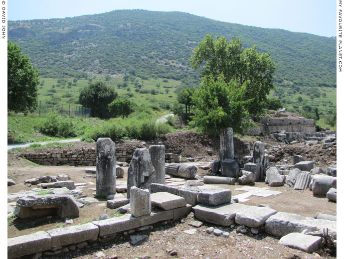
<svg viewBox="0 0 344 259"><path fill-rule="evenodd" d="M59 117L56 112L50 113L39 131L49 136L71 137L76 136L76 127L69 118Z"/></svg>

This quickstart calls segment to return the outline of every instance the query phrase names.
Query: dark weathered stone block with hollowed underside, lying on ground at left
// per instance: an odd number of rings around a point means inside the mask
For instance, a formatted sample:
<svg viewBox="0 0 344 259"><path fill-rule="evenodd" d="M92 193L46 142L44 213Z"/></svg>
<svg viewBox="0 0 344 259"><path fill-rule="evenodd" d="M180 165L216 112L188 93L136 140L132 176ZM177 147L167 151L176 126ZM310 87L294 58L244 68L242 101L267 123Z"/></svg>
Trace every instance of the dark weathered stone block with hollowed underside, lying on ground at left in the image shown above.
<svg viewBox="0 0 344 259"><path fill-rule="evenodd" d="M72 195L29 195L20 198L13 212L20 219L57 215L79 217L79 207Z"/></svg>

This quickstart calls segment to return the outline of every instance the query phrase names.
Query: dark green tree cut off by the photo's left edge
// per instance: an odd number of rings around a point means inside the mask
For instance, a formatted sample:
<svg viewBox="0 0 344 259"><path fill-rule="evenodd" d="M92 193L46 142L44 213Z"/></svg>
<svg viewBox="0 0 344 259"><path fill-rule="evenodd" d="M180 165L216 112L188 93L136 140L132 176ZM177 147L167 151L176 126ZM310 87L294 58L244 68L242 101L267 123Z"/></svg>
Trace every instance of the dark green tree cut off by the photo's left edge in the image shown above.
<svg viewBox="0 0 344 259"><path fill-rule="evenodd" d="M7 41L7 110L27 114L37 107L38 71L20 48Z"/></svg>

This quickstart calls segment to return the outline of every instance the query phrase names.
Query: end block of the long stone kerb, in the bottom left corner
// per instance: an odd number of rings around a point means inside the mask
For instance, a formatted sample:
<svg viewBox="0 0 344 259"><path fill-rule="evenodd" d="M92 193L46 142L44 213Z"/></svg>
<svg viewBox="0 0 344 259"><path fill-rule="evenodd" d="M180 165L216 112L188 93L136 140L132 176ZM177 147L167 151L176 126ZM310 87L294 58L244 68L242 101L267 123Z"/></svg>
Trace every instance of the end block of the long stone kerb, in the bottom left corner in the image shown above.
<svg viewBox="0 0 344 259"><path fill-rule="evenodd" d="M39 231L34 234L7 239L7 258L13 259L51 248L51 237L48 233Z"/></svg>

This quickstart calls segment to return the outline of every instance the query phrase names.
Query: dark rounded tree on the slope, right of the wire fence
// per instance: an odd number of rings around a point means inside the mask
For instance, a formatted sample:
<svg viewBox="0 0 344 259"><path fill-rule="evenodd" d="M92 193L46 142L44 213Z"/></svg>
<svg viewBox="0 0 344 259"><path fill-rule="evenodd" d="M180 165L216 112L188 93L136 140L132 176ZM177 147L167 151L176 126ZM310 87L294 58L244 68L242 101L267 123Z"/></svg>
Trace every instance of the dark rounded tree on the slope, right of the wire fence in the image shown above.
<svg viewBox="0 0 344 259"><path fill-rule="evenodd" d="M103 82L85 87L79 96L79 103L91 108L91 117L110 118L109 104L117 98L117 93Z"/></svg>

